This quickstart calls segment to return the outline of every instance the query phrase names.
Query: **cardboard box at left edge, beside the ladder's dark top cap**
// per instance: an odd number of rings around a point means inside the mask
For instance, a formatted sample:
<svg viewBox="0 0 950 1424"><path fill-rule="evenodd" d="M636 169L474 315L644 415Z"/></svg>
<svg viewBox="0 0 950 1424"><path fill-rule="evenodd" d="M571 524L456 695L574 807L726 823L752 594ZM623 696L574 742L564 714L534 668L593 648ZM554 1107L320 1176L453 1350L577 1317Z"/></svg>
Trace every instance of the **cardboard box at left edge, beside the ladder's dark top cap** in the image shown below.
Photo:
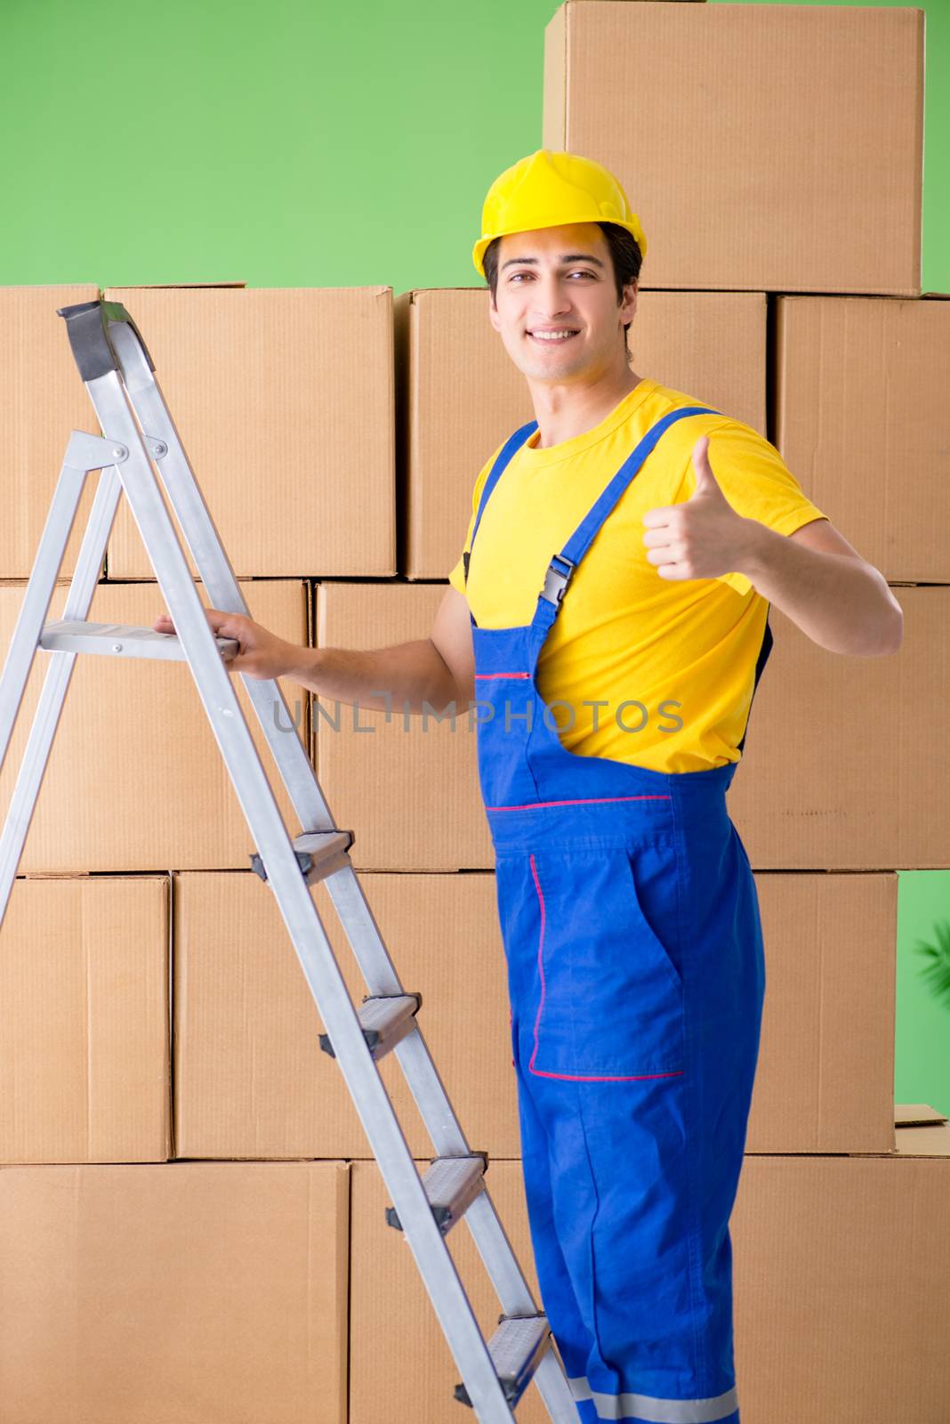
<svg viewBox="0 0 950 1424"><path fill-rule="evenodd" d="M28 578L73 430L100 433L57 308L98 286L0 288L0 577ZM98 476L85 478L61 574L71 578Z"/></svg>

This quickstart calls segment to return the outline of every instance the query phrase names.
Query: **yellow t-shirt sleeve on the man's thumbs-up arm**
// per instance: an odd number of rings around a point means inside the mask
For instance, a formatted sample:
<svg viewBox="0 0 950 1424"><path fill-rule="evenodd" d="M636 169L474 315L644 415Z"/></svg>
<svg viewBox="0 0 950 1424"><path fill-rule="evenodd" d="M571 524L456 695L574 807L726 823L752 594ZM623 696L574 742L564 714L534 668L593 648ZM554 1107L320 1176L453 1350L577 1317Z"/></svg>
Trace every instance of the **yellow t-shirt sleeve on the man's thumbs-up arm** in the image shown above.
<svg viewBox="0 0 950 1424"><path fill-rule="evenodd" d="M710 468L722 494L742 518L758 520L776 534L794 534L802 524L828 515L806 497L781 454L751 426L732 422L710 433ZM690 460L687 498L695 488ZM728 584L738 594L748 594L752 582L745 574L718 574L717 582Z"/></svg>

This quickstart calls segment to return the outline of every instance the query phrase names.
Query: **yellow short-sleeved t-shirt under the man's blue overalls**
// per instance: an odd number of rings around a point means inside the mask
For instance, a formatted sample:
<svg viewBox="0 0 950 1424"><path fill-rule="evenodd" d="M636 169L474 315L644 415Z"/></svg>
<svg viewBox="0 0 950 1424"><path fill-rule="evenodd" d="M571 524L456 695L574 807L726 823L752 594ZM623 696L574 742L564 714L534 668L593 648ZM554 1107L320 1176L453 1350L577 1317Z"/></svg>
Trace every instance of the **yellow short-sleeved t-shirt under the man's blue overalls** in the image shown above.
<svg viewBox="0 0 950 1424"><path fill-rule="evenodd" d="M485 506L468 588L461 558L448 575L479 628L530 622L552 555L647 430L673 409L703 404L711 402L641 380L593 430L543 450L538 431L529 436ZM570 752L658 772L740 759L768 600L738 572L661 578L643 543L649 510L693 496L693 447L703 434L738 514L778 534L826 517L751 426L725 414L670 426L577 565L540 651L538 691ZM499 450L475 481L465 550Z"/></svg>

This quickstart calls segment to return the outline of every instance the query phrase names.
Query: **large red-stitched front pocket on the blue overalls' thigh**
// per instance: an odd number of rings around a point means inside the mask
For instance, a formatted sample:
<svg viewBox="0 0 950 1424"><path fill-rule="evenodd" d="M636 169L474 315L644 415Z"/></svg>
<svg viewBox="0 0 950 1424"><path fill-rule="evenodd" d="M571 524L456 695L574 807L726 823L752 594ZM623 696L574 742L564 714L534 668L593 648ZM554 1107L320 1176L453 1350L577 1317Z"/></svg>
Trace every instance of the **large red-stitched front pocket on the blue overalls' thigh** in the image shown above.
<svg viewBox="0 0 950 1424"><path fill-rule="evenodd" d="M677 940L674 846L545 847L526 859L518 921L533 941L519 946L519 957L533 956L533 973L522 960L519 974L533 997L528 1071L572 1081L680 1075L683 980L660 938Z"/></svg>

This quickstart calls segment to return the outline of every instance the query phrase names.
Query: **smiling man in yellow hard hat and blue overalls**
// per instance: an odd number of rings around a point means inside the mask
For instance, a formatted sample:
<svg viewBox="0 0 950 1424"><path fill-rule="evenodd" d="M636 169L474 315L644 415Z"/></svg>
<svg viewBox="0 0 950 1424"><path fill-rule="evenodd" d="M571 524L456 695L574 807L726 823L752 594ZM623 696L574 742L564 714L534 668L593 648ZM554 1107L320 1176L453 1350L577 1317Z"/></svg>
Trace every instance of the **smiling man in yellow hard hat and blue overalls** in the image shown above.
<svg viewBox="0 0 950 1424"><path fill-rule="evenodd" d="M765 964L725 792L769 604L862 656L897 651L902 611L767 440L631 372L646 239L607 169L530 154L482 229L536 419L476 480L429 638L294 648L208 617L235 672L476 699L532 1242L579 1417L738 1424L728 1218Z"/></svg>

